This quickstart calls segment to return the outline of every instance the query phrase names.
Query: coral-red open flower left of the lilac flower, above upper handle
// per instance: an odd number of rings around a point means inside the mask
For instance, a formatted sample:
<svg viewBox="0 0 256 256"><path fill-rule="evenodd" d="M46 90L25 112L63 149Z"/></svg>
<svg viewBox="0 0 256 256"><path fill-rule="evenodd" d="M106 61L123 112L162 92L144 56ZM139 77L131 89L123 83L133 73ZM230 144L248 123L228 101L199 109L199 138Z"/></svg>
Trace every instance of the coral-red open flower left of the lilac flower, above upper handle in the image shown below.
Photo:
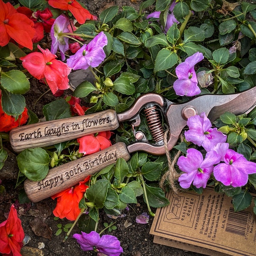
<svg viewBox="0 0 256 256"><path fill-rule="evenodd" d="M62 61L56 60L57 56L52 54L49 49L42 49L38 45L38 49L42 52L31 52L21 57L22 65L36 79L45 79L53 94L59 93L59 90L69 88L68 75L71 68ZM59 94L58 94L59 95Z"/></svg>

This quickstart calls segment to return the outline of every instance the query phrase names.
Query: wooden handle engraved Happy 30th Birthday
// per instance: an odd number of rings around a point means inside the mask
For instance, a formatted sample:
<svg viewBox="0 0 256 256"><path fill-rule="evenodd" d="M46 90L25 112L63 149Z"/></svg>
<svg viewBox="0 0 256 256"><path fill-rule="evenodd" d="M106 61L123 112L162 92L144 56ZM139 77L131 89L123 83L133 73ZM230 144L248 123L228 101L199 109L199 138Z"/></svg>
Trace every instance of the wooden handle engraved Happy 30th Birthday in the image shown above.
<svg viewBox="0 0 256 256"><path fill-rule="evenodd" d="M49 170L41 181L25 180L24 189L32 202L38 202L75 186L88 175L93 175L118 158L130 159L125 143L119 142L97 153L65 163Z"/></svg>

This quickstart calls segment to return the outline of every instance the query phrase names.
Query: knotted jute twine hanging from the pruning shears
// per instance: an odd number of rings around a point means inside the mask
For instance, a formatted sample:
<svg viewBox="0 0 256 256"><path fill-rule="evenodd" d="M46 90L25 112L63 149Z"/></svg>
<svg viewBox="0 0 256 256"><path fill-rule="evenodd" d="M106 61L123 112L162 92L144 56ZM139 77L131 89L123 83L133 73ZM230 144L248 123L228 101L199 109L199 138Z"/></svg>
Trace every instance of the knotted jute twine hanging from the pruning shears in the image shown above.
<svg viewBox="0 0 256 256"><path fill-rule="evenodd" d="M177 184L178 177L180 177L180 174L177 173L174 166L177 163L177 160L181 154L181 151L179 150L177 152L177 154L175 154L175 157L173 158L173 160L171 159L170 152L168 150L168 133L169 133L169 130L167 130L164 133L163 142L164 142L164 149L166 151L166 157L167 157L169 168L160 180L160 188L161 189L164 188L164 182L167 180L169 182L170 187L172 188L173 192L175 192L177 194L179 192L179 189L176 184ZM180 139L183 141L182 135L180 135Z"/></svg>

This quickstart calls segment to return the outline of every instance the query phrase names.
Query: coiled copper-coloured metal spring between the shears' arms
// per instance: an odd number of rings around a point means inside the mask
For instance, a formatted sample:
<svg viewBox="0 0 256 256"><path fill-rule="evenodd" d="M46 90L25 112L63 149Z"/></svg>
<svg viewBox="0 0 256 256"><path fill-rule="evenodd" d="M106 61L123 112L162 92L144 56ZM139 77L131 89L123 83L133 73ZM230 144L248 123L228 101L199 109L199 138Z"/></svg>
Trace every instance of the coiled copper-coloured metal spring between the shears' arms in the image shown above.
<svg viewBox="0 0 256 256"><path fill-rule="evenodd" d="M150 129L151 135L155 142L158 142L160 140L163 140L164 137L164 131L163 126L161 124L160 114L159 111L157 111L157 107L153 106L150 108L146 108L144 110L148 127Z"/></svg>

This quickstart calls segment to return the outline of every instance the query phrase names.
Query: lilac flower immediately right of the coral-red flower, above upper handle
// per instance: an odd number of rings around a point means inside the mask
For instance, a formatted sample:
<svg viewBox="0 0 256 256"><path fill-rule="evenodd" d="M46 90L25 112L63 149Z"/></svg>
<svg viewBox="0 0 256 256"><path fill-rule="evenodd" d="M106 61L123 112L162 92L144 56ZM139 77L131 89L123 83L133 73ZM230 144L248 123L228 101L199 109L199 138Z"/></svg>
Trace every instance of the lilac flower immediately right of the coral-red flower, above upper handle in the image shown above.
<svg viewBox="0 0 256 256"><path fill-rule="evenodd" d="M68 66L73 70L98 67L106 57L103 47L107 44L107 36L100 32L89 44L84 44L75 55L67 59Z"/></svg>

